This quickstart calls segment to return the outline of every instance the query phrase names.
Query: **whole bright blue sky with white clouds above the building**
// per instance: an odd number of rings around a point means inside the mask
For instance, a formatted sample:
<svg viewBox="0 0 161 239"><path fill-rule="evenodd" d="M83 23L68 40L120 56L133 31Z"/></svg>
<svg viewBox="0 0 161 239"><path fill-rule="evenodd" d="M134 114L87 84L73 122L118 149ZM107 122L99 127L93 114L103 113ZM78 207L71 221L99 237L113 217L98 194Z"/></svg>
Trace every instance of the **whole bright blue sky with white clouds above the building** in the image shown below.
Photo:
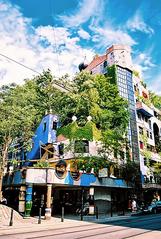
<svg viewBox="0 0 161 239"><path fill-rule="evenodd" d="M0 85L47 69L72 76L81 62L124 44L148 89L161 95L160 36L161 0L0 0Z"/></svg>

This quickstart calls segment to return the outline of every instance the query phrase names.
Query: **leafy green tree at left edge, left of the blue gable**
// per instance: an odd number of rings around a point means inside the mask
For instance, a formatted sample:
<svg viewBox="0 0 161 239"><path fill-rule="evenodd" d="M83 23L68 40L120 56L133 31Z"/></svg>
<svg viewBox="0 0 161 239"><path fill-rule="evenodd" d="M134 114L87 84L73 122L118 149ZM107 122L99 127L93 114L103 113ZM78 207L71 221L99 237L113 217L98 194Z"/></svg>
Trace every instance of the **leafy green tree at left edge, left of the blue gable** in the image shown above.
<svg viewBox="0 0 161 239"><path fill-rule="evenodd" d="M55 79L50 70L33 79L26 79L21 86L11 84L0 89L0 192L7 154L12 143L19 142L26 148L45 111L58 113L59 102L65 92L57 85L70 87L68 76ZM26 150L26 149L25 149Z"/></svg>

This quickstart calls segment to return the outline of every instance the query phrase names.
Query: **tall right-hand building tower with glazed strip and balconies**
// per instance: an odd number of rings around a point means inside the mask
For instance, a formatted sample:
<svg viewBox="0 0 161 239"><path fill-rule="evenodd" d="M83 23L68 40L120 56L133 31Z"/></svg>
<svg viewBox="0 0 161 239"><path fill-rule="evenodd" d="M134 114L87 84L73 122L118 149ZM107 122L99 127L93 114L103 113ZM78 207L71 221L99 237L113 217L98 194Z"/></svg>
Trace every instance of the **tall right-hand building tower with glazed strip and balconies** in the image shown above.
<svg viewBox="0 0 161 239"><path fill-rule="evenodd" d="M91 74L106 74L107 66L116 67L116 84L120 95L129 102L128 139L132 159L140 164L142 200L151 201L161 195L161 181L155 167L161 162L161 112L150 102L149 91L135 74L130 48L113 45L103 56L94 57L86 67ZM150 195L150 196L149 196Z"/></svg>

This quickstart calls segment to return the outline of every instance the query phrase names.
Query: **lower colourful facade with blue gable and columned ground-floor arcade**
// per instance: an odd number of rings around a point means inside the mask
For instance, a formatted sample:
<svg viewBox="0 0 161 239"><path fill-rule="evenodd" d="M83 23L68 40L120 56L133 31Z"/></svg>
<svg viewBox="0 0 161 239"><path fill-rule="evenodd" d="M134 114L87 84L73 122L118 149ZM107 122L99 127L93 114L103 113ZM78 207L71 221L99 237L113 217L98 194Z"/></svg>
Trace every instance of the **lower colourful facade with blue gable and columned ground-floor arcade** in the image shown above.
<svg viewBox="0 0 161 239"><path fill-rule="evenodd" d="M64 151L69 140L57 136L59 127L57 115L44 116L33 137L31 151L6 172L3 192L8 205L26 216L38 215L41 207L46 218L60 214L62 206L66 214L75 214L86 204L90 214L95 213L96 206L99 213L123 213L132 186L107 169L99 175L78 171L73 165L77 152ZM98 142L94 139L85 141L84 146L85 156L98 155Z"/></svg>

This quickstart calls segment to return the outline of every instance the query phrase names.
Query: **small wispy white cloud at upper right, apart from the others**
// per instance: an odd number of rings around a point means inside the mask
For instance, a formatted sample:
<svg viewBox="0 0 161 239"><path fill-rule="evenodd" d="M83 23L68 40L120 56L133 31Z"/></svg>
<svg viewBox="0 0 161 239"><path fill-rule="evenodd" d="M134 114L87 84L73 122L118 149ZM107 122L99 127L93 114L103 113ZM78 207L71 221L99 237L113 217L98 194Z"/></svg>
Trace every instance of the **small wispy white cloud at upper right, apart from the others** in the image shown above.
<svg viewBox="0 0 161 239"><path fill-rule="evenodd" d="M127 28L131 31L140 31L150 35L154 33L154 30L144 22L139 13L127 21Z"/></svg>

